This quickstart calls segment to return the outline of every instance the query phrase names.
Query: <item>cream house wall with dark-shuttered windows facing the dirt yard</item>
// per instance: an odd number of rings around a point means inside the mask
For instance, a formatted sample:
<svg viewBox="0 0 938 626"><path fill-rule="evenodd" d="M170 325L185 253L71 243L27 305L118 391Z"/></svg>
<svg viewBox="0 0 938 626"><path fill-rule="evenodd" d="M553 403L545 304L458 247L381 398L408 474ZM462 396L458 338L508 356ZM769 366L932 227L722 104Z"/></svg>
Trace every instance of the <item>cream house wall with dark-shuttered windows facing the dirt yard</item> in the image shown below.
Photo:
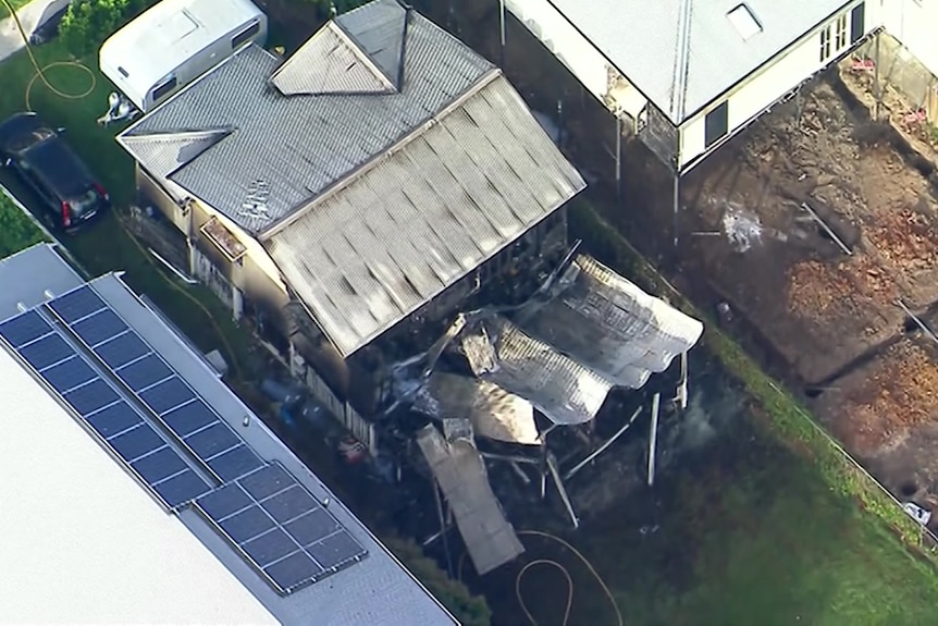
<svg viewBox="0 0 938 626"><path fill-rule="evenodd" d="M906 1L912 2L914 0ZM777 57L769 64L764 65L758 73L750 76L727 95L712 102L706 109L681 124L679 128L680 149L678 158L681 171L689 171L704 156L743 130L750 122L753 122L792 89L832 64L850 49L855 48L859 41L853 45L850 44L850 27L851 10L856 4L859 2L851 4L850 8L839 14L846 15L847 19L847 44L838 48L836 41L831 41L830 56L828 58L822 60L822 33L828 26L831 29L835 28L834 24L837 17L803 37L797 45ZM879 0L866 0L864 2L864 35L868 35L875 30L879 23ZM707 146L707 114L724 103L727 105L728 132L720 140Z"/></svg>

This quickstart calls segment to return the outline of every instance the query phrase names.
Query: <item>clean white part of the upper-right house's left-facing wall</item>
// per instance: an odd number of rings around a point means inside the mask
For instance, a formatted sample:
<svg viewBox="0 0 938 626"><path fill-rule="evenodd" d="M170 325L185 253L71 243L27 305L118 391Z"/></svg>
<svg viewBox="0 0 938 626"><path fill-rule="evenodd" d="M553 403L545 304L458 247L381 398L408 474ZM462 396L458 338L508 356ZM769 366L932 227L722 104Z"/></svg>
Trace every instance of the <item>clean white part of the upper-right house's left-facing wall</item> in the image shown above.
<svg viewBox="0 0 938 626"><path fill-rule="evenodd" d="M505 9L553 52L587 90L605 101L609 83L606 59L547 0L505 0Z"/></svg>

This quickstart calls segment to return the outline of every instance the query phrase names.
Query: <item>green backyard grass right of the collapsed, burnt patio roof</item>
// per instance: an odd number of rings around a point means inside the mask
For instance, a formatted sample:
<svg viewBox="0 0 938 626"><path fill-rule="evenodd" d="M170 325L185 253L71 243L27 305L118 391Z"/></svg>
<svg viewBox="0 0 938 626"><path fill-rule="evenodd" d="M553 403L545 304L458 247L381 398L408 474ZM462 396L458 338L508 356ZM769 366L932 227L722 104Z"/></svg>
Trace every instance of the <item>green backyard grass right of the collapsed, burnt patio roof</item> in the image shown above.
<svg viewBox="0 0 938 626"><path fill-rule="evenodd" d="M579 205L570 228L603 261L706 318L592 207ZM666 517L656 533L622 538L610 521L582 541L627 623L934 622L938 573L931 553L918 548L918 526L713 323L704 349L751 398L744 428L699 467L658 487ZM577 585L589 598L578 615L608 621L595 584L581 576Z"/></svg>

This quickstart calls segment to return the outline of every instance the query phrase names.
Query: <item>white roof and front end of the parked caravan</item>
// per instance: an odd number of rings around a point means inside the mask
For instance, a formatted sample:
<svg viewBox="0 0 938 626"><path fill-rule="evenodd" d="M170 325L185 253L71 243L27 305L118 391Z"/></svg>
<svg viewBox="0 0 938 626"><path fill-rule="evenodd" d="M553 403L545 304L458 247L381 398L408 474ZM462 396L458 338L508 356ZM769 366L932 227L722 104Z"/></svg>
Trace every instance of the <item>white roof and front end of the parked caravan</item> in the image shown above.
<svg viewBox="0 0 938 626"><path fill-rule="evenodd" d="M263 13L250 0L162 0L101 45L99 65L132 99L225 33Z"/></svg>

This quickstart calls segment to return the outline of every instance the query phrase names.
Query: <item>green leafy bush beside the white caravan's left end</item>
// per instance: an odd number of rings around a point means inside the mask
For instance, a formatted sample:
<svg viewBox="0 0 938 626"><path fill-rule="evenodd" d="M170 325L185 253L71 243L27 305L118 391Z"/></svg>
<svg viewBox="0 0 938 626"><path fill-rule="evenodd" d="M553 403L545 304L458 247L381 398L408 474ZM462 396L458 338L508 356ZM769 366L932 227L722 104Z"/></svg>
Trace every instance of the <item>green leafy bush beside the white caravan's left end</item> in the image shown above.
<svg viewBox="0 0 938 626"><path fill-rule="evenodd" d="M97 50L101 42L156 0L74 0L59 33L76 56Z"/></svg>

